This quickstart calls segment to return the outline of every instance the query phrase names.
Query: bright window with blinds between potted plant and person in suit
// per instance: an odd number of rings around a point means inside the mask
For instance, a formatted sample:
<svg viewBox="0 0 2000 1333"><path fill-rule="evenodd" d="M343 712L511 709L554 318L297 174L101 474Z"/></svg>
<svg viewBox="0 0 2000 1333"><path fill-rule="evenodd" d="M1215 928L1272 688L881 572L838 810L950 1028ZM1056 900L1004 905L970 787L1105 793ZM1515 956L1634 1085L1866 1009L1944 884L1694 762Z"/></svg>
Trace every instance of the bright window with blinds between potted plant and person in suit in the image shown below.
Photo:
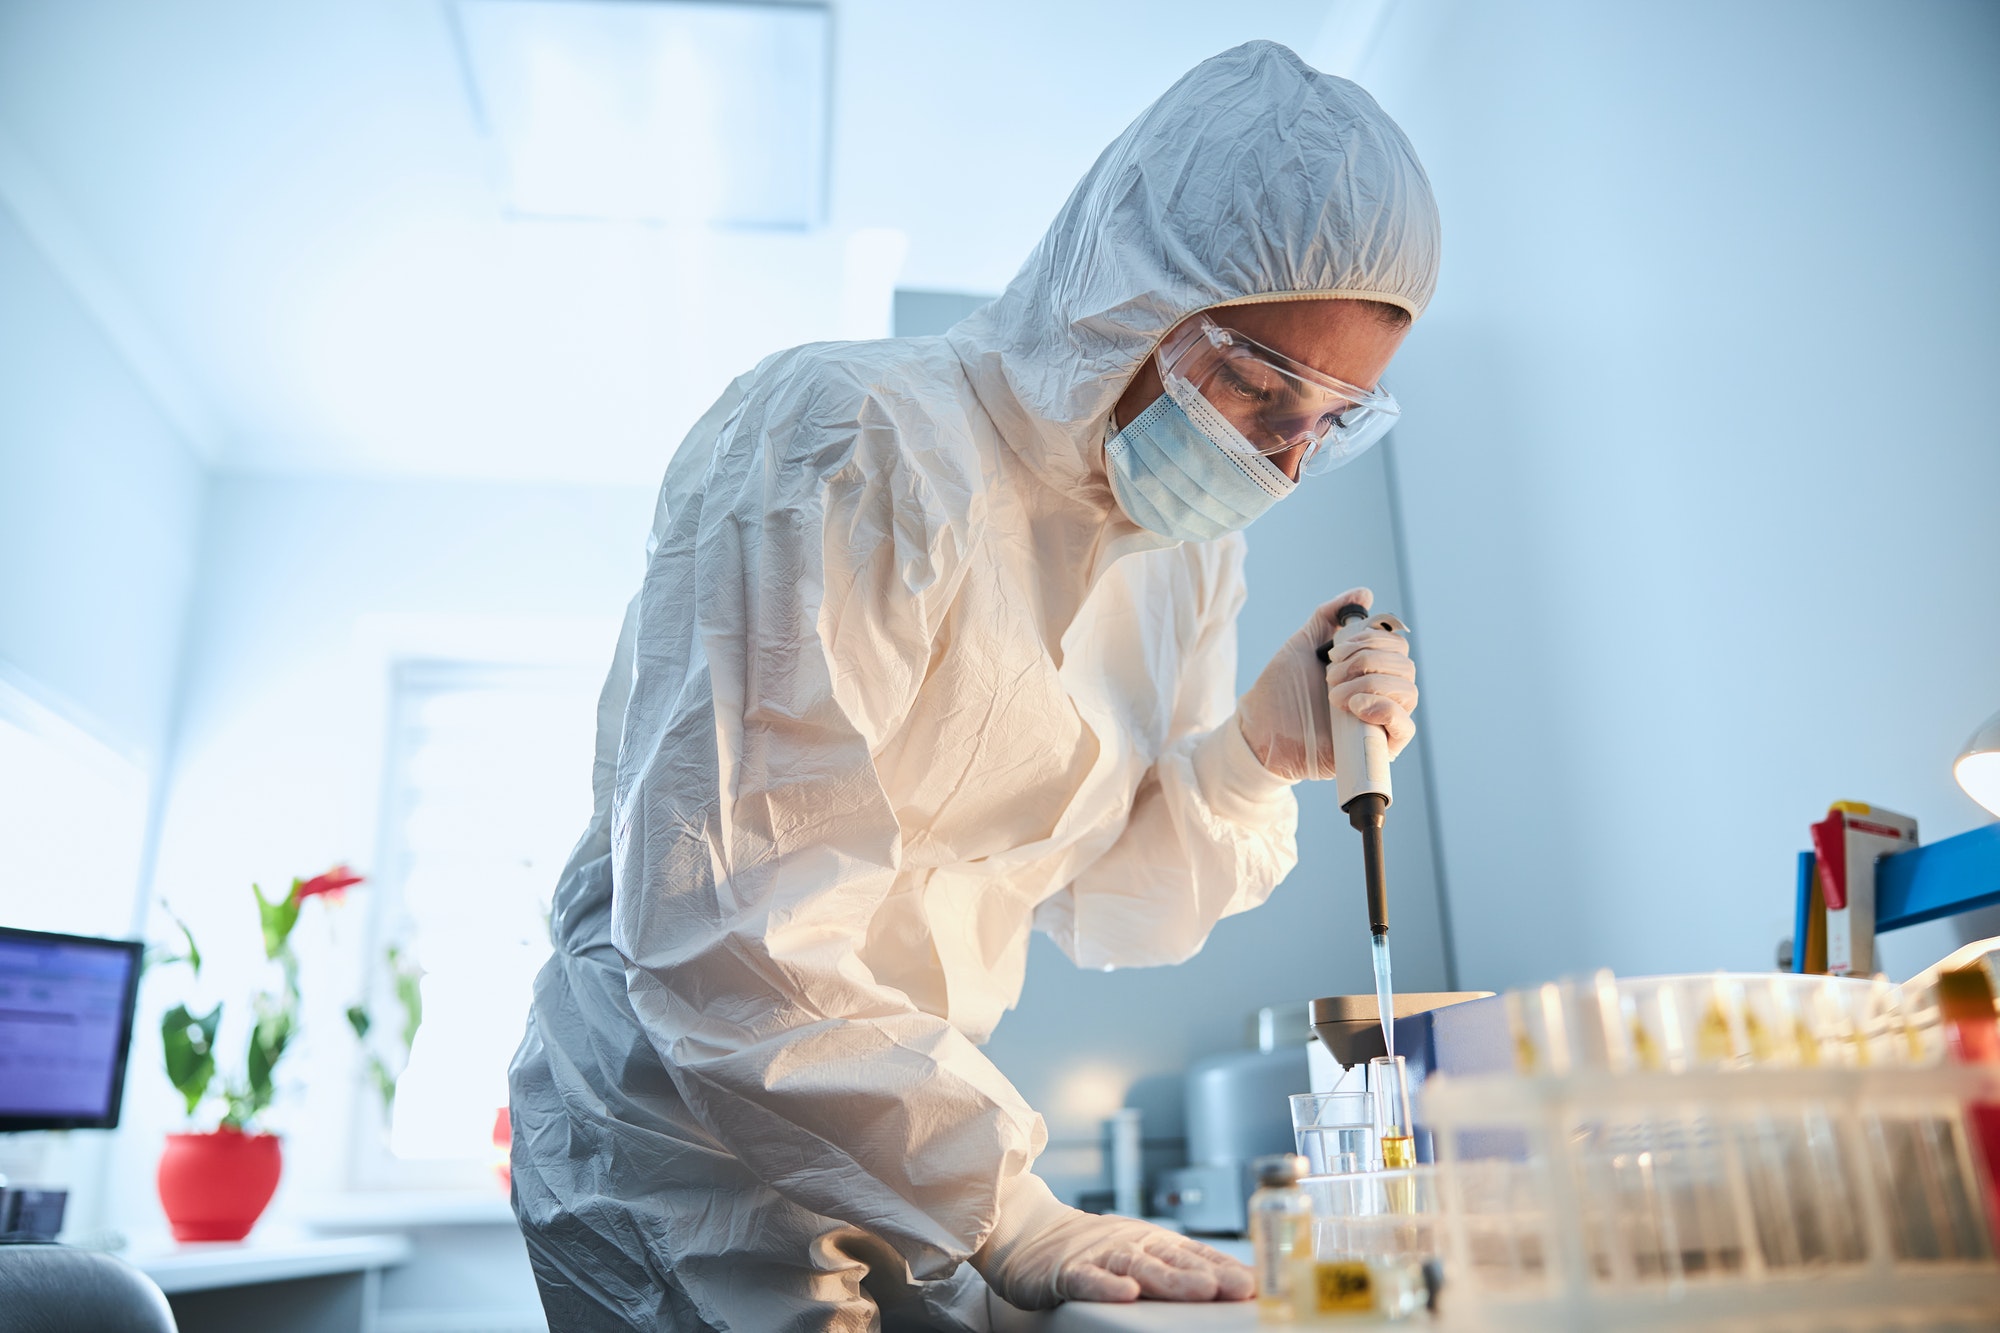
<svg viewBox="0 0 2000 1333"><path fill-rule="evenodd" d="M424 971L424 1021L386 1151L362 1137L362 1187L470 1185L494 1155L548 905L590 819L596 685L566 666L394 669L370 993L378 1023L400 1017L396 945Z"/></svg>

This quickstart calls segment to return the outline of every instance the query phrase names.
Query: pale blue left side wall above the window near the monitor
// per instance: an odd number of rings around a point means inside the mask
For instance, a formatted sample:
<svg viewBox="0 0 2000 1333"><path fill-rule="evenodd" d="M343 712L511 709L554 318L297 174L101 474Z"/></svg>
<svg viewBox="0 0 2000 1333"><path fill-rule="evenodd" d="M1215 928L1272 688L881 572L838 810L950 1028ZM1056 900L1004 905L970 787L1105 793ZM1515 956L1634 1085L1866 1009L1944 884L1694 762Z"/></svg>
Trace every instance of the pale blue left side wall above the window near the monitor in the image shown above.
<svg viewBox="0 0 2000 1333"><path fill-rule="evenodd" d="M152 771L202 472L0 202L0 673Z"/></svg>

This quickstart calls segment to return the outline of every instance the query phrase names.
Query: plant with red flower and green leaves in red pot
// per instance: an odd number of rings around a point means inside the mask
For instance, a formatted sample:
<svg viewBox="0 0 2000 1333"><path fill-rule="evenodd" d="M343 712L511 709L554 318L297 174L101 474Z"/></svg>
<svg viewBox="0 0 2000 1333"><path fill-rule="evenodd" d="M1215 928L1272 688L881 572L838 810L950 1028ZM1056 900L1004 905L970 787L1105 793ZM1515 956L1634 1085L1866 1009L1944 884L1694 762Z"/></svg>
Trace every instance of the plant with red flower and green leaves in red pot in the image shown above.
<svg viewBox="0 0 2000 1333"><path fill-rule="evenodd" d="M240 1071L216 1083L216 1035L222 1029L222 1005L204 1015L184 1003L160 1019L160 1041L166 1053L166 1077L188 1105L190 1121L204 1103L218 1099L222 1117L214 1129L166 1137L160 1155L160 1205L174 1229L176 1241L240 1241L262 1217L278 1189L284 1169L278 1135L264 1133L258 1119L276 1093L278 1061L284 1059L298 1031L298 955L292 951L292 927L312 899L330 903L362 883L348 867L338 865L312 879L294 879L278 901L250 885L256 895L258 921L264 935L264 959L276 965L278 989L250 997L250 1041ZM172 917L172 909L168 911ZM202 951L194 933L174 917L184 943L182 953L158 959L186 963L196 977L202 973Z"/></svg>

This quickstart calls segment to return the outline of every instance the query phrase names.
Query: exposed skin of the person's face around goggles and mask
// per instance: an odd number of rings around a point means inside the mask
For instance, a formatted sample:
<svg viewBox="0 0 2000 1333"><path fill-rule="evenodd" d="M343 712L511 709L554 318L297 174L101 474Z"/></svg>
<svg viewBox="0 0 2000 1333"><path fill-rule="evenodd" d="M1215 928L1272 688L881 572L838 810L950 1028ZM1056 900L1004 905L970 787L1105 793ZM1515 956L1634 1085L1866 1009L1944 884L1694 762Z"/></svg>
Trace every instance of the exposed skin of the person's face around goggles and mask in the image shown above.
<svg viewBox="0 0 2000 1333"><path fill-rule="evenodd" d="M1374 388L1382 380L1396 348L1402 346L1410 324L1388 324L1380 308L1366 300L1266 300L1246 306L1220 306L1190 314L1174 326L1174 334L1186 330L1206 314L1224 328L1234 328L1262 342L1274 352L1282 352L1296 362L1312 366L1336 380L1346 380L1356 388ZM1134 416L1152 406L1162 392L1158 356L1148 356L1118 396L1112 422L1124 426ZM1298 466L1304 444L1280 454L1272 454L1286 476L1298 480Z"/></svg>

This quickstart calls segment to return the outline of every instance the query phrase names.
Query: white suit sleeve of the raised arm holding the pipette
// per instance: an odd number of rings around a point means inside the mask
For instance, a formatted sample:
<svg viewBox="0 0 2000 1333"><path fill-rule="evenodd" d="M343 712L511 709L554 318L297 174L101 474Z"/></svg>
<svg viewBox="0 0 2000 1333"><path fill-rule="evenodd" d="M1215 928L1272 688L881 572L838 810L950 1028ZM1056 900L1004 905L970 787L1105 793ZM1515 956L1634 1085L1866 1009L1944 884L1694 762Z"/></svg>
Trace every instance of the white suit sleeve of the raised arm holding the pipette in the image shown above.
<svg viewBox="0 0 2000 1333"><path fill-rule="evenodd" d="M1140 781L1118 841L1036 909L1078 967L1180 963L1216 921L1248 911L1298 863L1298 801L1236 725L1242 540L1216 542L1202 632L1166 751Z"/></svg>

